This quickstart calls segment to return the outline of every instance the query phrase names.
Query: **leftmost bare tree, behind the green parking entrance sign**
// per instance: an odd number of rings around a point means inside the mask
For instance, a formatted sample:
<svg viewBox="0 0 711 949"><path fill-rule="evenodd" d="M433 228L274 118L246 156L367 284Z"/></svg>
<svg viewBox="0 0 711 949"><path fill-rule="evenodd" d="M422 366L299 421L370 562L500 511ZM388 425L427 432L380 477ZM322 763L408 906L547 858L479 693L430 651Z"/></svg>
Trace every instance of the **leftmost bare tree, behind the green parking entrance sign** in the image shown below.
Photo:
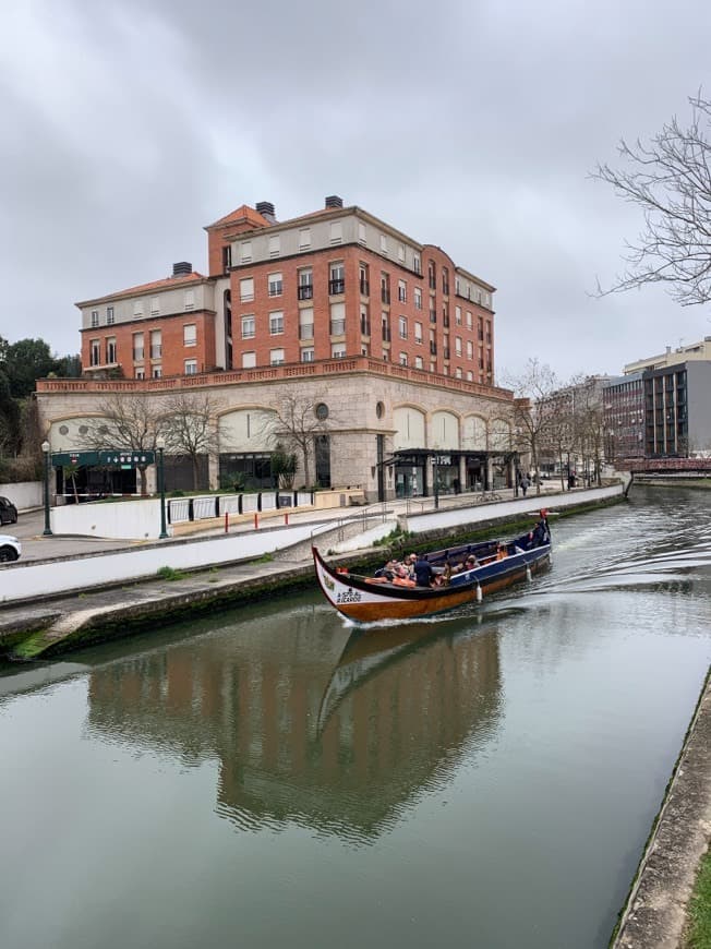
<svg viewBox="0 0 711 949"><path fill-rule="evenodd" d="M156 415L154 405L140 395L113 393L96 407L97 417L87 421L77 447L88 451L118 448L124 452L154 452L156 439L168 444L169 421ZM141 494L147 494L146 468L138 465Z"/></svg>

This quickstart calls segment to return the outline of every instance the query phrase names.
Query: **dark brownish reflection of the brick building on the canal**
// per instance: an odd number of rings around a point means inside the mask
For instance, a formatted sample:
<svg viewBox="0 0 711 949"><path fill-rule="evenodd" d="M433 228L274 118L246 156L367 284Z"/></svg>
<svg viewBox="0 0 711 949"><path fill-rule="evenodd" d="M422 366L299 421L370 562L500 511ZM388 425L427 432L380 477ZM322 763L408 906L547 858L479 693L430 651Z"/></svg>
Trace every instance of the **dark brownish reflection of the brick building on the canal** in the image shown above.
<svg viewBox="0 0 711 949"><path fill-rule="evenodd" d="M89 676L104 741L217 760L217 812L351 840L390 826L495 735L495 628L477 618L352 632L313 606L232 622Z"/></svg>

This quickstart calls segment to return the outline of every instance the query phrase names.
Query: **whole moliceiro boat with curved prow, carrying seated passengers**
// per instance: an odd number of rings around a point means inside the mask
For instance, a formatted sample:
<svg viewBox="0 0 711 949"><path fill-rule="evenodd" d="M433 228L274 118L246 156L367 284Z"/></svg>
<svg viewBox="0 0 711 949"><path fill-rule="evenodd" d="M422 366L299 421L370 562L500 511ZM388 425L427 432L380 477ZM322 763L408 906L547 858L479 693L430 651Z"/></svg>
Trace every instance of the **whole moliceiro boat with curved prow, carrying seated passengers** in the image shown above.
<svg viewBox="0 0 711 949"><path fill-rule="evenodd" d="M550 563L551 532L547 512L542 510L534 530L506 543L483 541L425 554L434 574L426 586L383 570L364 577L334 568L315 546L312 551L318 585L332 606L349 620L376 623L431 616L481 602L485 593L530 578Z"/></svg>

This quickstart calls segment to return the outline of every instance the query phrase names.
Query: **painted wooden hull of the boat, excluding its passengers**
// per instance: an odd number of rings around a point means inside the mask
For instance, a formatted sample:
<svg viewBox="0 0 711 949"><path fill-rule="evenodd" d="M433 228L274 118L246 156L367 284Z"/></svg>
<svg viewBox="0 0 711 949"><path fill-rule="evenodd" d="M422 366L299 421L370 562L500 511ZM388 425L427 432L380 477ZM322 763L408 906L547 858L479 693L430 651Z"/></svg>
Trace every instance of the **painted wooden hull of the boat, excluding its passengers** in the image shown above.
<svg viewBox="0 0 711 949"><path fill-rule="evenodd" d="M369 582L369 578L339 573L329 567L313 548L316 578L328 602L358 623L383 620L411 620L454 610L478 602L485 594L511 586L529 573L537 572L550 560L546 544L516 556L491 563L457 577L447 587L398 587L393 584Z"/></svg>

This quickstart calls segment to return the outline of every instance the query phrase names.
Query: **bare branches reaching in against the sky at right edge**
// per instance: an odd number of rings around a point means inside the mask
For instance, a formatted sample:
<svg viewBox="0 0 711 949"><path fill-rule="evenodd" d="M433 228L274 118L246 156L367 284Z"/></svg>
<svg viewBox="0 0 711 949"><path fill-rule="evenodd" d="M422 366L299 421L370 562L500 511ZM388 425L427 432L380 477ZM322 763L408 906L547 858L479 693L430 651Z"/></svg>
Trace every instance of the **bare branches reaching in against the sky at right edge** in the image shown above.
<svg viewBox="0 0 711 949"><path fill-rule="evenodd" d="M644 215L637 241L626 243L627 269L607 289L599 285L600 296L662 283L683 307L711 299L711 101L699 94L689 103L688 128L673 118L648 144L623 140L629 168L592 172Z"/></svg>

